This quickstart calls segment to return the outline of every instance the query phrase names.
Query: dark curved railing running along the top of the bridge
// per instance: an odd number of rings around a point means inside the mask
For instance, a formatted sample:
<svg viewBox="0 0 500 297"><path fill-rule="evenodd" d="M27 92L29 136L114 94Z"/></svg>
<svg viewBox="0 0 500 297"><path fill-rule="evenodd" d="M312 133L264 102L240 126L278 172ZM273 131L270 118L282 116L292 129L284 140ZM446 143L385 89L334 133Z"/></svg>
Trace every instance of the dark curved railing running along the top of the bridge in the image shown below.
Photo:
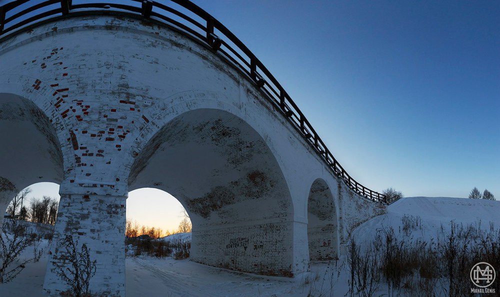
<svg viewBox="0 0 500 297"><path fill-rule="evenodd" d="M29 2L33 3L30 5ZM96 11L109 14L107 11L110 8L113 8L113 12L127 12L149 21L166 22L208 45L214 52L225 57L253 80L255 85L267 94L274 106L314 147L332 172L341 178L349 188L376 202L390 204L396 200L364 187L347 174L276 78L231 31L206 11L188 0L164 0L164 3L150 0L117 2L16 0L0 6L0 37L5 33L29 27L44 19L92 14Z"/></svg>

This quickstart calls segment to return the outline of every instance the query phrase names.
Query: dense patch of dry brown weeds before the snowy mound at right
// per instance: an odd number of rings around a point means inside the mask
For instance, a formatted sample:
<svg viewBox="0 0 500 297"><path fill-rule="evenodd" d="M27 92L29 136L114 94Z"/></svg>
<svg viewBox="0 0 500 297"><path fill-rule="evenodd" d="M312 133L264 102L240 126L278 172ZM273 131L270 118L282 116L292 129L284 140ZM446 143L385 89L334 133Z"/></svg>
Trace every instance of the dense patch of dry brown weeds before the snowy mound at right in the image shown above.
<svg viewBox="0 0 500 297"><path fill-rule="evenodd" d="M421 225L418 217L411 216L402 223L408 231ZM425 242L407 236L398 239L392 228L386 228L377 230L375 240L361 251L349 241L350 296L372 296L382 282L388 296L465 296L470 293L470 269L476 263L500 267L500 229L493 224L481 229L480 222L451 222L449 232L441 226L437 238ZM500 282L491 289L500 292Z"/></svg>

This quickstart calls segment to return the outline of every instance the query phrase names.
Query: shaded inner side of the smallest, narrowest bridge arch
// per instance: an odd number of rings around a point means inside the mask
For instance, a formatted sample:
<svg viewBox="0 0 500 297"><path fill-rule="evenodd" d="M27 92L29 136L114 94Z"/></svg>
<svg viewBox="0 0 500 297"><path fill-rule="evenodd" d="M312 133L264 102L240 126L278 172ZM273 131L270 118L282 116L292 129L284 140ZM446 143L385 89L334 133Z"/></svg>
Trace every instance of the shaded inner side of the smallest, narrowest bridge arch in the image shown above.
<svg viewBox="0 0 500 297"><path fill-rule="evenodd" d="M331 190L323 179L316 179L307 199L307 241L310 261L338 257L338 221Z"/></svg>

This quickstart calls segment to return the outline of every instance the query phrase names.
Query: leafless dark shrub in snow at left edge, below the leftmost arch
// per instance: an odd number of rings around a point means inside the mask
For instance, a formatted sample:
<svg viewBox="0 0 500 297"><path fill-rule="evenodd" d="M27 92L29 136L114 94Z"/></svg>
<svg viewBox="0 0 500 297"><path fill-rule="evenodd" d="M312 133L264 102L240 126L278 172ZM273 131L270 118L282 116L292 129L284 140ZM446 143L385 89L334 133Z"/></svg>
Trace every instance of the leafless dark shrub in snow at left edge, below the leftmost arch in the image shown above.
<svg viewBox="0 0 500 297"><path fill-rule="evenodd" d="M10 230L10 232L7 232ZM12 281L32 259L18 261L19 255L35 238L27 237L24 227L14 220L4 224L0 234L0 284ZM10 233L10 234L8 234ZM13 264L13 268L11 265Z"/></svg>

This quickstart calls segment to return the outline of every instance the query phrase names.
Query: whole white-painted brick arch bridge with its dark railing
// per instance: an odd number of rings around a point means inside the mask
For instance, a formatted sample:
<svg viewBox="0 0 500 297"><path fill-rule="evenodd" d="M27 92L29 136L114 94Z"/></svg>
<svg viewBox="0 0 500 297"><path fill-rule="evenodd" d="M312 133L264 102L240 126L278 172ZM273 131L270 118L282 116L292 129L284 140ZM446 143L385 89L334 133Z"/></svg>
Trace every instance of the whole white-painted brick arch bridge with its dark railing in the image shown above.
<svg viewBox="0 0 500 297"><path fill-rule="evenodd" d="M29 3L0 7L0 208L33 183L60 184L49 295L67 289L55 271L72 235L97 260L92 293L124 296L137 188L181 202L193 261L274 276L336 258L384 212L386 197L345 172L272 74L198 6Z"/></svg>

